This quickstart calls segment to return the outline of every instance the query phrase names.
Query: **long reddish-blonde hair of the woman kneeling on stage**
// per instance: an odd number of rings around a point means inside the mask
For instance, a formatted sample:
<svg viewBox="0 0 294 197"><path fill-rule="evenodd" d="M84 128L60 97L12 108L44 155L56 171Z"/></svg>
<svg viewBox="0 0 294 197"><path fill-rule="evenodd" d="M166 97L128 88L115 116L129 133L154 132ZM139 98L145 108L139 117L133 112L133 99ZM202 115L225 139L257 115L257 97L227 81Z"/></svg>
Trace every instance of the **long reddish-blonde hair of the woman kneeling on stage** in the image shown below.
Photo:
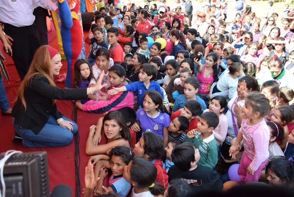
<svg viewBox="0 0 294 197"><path fill-rule="evenodd" d="M30 85L31 79L33 78L33 76L37 74L41 74L47 78L50 85L56 86L53 81L53 73L50 71L51 59L50 59L48 47L49 47L48 45L43 45L37 49L33 57L33 60L31 62L31 65L28 69L28 72L25 75L25 79L23 80L23 82L21 83L17 91L16 101L20 99L23 106L25 107L25 110L26 110L26 103L25 103L25 96L24 96L25 87ZM52 105L54 105L55 103L56 103L56 100L53 99Z"/></svg>

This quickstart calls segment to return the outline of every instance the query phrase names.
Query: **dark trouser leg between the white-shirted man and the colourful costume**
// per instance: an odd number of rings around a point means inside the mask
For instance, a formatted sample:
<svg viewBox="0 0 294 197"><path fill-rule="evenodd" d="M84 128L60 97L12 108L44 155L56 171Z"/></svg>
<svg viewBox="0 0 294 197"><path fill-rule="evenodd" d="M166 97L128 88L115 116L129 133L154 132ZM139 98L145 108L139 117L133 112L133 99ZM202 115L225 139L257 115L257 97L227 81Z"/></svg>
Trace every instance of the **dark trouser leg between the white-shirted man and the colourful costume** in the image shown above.
<svg viewBox="0 0 294 197"><path fill-rule="evenodd" d="M33 14L35 15L35 24L40 37L41 45L48 45L48 33L46 16L49 16L48 10L43 7L36 7Z"/></svg>

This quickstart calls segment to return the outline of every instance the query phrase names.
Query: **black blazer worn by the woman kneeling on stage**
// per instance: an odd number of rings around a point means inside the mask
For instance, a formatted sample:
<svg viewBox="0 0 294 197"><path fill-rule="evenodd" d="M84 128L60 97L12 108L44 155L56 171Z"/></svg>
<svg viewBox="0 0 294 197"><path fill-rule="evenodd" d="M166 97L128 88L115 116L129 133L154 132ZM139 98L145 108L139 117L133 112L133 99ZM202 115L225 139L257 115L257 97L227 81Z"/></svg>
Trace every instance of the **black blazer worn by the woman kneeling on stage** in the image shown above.
<svg viewBox="0 0 294 197"><path fill-rule="evenodd" d="M32 130L36 135L48 121L49 114L53 115L56 120L62 117L62 113L58 112L56 104L52 103L53 99L77 100L88 98L87 88L61 89L50 85L47 78L41 74L32 77L30 83L25 87L24 96L26 110L21 100L18 99L12 109L12 117L16 119L18 125Z"/></svg>

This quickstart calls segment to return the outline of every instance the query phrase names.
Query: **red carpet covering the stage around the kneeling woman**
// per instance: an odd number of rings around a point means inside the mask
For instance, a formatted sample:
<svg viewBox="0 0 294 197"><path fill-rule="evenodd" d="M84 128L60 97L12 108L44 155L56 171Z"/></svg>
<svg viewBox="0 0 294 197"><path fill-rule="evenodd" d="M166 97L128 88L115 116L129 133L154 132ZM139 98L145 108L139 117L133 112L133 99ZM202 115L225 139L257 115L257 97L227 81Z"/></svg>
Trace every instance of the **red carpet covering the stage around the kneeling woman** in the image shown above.
<svg viewBox="0 0 294 197"><path fill-rule="evenodd" d="M52 31L48 33L49 45L58 49L57 46L57 38L54 27L51 26ZM85 35L88 32L84 32ZM1 44L0 44L1 45ZM2 45L0 46L2 49ZM89 47L86 46L86 51L88 53ZM15 66L13 64L13 60L11 57L7 56L7 60L5 65L9 72L11 81L8 83L4 80L5 90L7 97L9 99L10 107L13 107L14 100L16 98L16 93L18 87L21 83L19 80L18 74L16 72ZM60 74L66 72L67 62L66 60L62 60L63 67L60 71ZM55 77L57 79L57 77ZM59 87L64 87L64 83L56 83ZM73 103L71 101L57 101L58 110L63 113L65 116L71 118ZM94 113L86 113L78 110L77 112L77 124L78 124L78 132L80 137L79 149L80 149L80 181L81 181L81 189L84 188L84 175L85 175L85 167L89 160L89 156L85 154L85 143L88 138L89 127L93 124L96 125L97 120L101 117L102 114L94 114ZM12 117L11 116L2 116L0 115L0 152L5 152L10 149L21 150L24 152L31 151L47 151L48 153L48 161L49 161L49 181L50 181L50 191L57 184L68 184L72 190L74 195L75 189L75 171L74 171L74 141L63 147L40 147L40 148L25 148L22 143L14 143L11 141L14 135L14 129L12 126ZM105 143L105 138L101 141Z"/></svg>

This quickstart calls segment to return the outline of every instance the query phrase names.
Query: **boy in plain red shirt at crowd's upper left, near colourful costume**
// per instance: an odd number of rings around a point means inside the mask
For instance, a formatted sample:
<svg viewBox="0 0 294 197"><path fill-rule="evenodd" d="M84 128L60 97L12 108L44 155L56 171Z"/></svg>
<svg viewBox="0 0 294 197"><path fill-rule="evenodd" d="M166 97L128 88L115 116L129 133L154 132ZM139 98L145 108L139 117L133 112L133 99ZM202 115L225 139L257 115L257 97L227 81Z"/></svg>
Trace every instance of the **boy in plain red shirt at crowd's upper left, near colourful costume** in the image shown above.
<svg viewBox="0 0 294 197"><path fill-rule="evenodd" d="M110 57L113 58L114 63L123 62L123 48L118 43L119 40L119 29L109 28L107 30L107 42L110 44L109 53Z"/></svg>

